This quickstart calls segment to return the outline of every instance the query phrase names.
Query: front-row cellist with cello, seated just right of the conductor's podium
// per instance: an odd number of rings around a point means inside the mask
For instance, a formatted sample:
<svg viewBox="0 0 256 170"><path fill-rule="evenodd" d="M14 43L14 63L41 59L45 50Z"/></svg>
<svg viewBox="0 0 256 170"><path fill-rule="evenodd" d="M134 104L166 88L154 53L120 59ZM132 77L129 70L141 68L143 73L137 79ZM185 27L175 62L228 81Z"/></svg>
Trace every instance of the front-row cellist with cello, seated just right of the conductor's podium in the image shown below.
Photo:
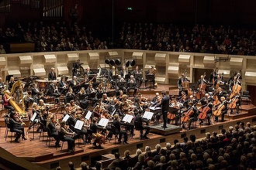
<svg viewBox="0 0 256 170"><path fill-rule="evenodd" d="M186 110L183 110L181 113L185 114L184 117L187 117L189 119L188 130L190 130L192 122L197 121L198 119L199 110L195 107L195 104L193 103L193 101L189 102L187 107L188 108ZM185 128L186 121L182 121L182 123L183 123L182 128Z"/></svg>

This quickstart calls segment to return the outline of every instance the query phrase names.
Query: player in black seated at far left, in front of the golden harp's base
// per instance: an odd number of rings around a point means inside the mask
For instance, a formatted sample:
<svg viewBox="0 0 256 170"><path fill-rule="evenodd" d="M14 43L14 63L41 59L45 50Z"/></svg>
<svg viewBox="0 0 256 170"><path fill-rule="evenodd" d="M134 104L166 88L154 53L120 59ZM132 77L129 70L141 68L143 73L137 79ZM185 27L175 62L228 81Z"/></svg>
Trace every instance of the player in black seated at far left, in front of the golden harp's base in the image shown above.
<svg viewBox="0 0 256 170"><path fill-rule="evenodd" d="M16 132L16 139L14 140L16 143L19 143L19 138L22 135L22 139L26 140L25 138L25 133L24 133L24 123L19 123L19 116L15 111L12 111L9 117L9 124L10 124L10 129L13 132Z"/></svg>

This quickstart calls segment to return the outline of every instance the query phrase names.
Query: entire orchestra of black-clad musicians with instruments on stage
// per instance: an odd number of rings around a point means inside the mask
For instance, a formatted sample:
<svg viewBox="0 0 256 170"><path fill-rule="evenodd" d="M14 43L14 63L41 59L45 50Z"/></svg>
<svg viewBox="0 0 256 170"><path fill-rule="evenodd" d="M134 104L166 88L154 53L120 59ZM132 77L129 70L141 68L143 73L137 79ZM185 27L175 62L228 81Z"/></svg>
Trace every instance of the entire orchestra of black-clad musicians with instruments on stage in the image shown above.
<svg viewBox="0 0 256 170"><path fill-rule="evenodd" d="M81 66L79 63L78 65ZM76 69L78 69L77 66ZM219 74L218 70L215 69L209 75L209 79L206 79L206 74L201 75L195 83L198 86L195 89L195 93L189 93L190 79L186 76L185 71L178 77L179 94L177 96L170 97L163 90L161 92L162 95L157 92L154 97L147 99L140 93L142 77L156 75L156 68L150 66L146 73L147 75L143 75L138 66L132 72L129 72L126 66L121 69L119 70L119 68L112 66L109 71L111 80L113 80L113 76L117 77L114 82L114 90L111 91L111 89L106 89L106 83L111 82L95 83L89 80L89 75L93 74L90 67L83 74L84 77L80 78L81 83L77 76L73 76L71 80L67 80L66 76L61 76L61 80L57 80L54 68L52 68L48 74L47 89L45 91L41 88L40 81L33 82L31 89L29 89L34 102L31 113L36 114L33 125L34 122L40 124L39 129L46 126L50 131L50 135L56 140L55 145L57 147L60 146L60 140L67 141L68 150L74 151L74 140L78 136L82 136L86 143L91 143L92 138L95 138L93 145L98 145L97 147L102 148L102 145L106 143L104 134L107 133L107 130L111 131L111 128L109 128L111 125L116 128L118 143L121 143L123 138L123 144L128 144L128 140L130 136L133 137L134 128L138 124L139 130L143 132L141 137L148 139L147 134L150 131L150 124L159 124L161 116L163 117L163 126L161 128L168 128L168 124L172 124L171 120L173 120L176 126L180 125L185 128L185 124L187 124L187 130L190 130L193 121L199 120L200 125L206 121L207 125L210 125L212 117L215 117L213 118L215 122L219 121L218 117L221 117L221 121L224 121L224 115L227 114L228 110L230 110L230 114L234 110L236 110L236 114L239 113L242 87L239 81L240 73L233 76L230 84L228 84L223 80L223 74ZM126 80L126 75L130 76L128 80ZM99 78L98 76L100 75L95 75L96 80ZM109 80L106 79L106 81ZM14 83L14 78L11 78L9 82L10 90L12 90L10 87ZM213 91L208 91L209 84L213 84ZM227 85L229 89L223 90L221 85ZM130 97L131 90L133 90L133 97ZM231 93L229 93L229 90ZM64 91L65 93L63 93ZM137 93L137 91L139 92ZM5 90L5 92L10 94L8 90ZM110 95L110 92L114 94ZM56 114L50 114L48 111L50 105L46 104L47 100L41 99L41 97L47 97L47 95L55 99L61 96L64 97L65 109L61 113L63 117L68 114L69 118L67 121L60 121L60 128L57 128ZM9 100L14 100L14 97L12 95L9 95L8 98L5 95L3 96L4 107L16 110L16 107L13 107ZM150 120L143 117L144 112L150 110L148 107L160 107L160 110L154 111L154 116ZM88 110L92 112L92 116L85 119L85 114ZM16 115L12 112L9 114L9 123L12 124L12 131L17 133L15 141L19 142L21 136L26 140L23 125L17 118L18 114ZM131 115L133 117L132 121L123 121L123 117L126 115ZM99 121L102 118L109 119L106 127L99 125ZM81 130L74 128L78 120L85 122ZM46 123L43 125L43 122ZM178 122L181 123L178 124ZM128 131L130 131L130 136L127 134ZM108 138L110 137L111 135L108 135Z"/></svg>

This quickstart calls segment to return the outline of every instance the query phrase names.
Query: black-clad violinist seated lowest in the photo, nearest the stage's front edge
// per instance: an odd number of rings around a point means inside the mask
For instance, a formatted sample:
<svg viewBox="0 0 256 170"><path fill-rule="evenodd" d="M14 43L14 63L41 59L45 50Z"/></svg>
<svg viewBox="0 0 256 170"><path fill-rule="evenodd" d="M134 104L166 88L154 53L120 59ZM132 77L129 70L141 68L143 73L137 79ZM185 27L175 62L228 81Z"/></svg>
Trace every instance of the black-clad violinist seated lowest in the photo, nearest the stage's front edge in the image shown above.
<svg viewBox="0 0 256 170"><path fill-rule="evenodd" d="M74 152L74 132L69 132L69 128L65 121L61 121L61 128L59 131L61 141L67 141L67 150Z"/></svg>

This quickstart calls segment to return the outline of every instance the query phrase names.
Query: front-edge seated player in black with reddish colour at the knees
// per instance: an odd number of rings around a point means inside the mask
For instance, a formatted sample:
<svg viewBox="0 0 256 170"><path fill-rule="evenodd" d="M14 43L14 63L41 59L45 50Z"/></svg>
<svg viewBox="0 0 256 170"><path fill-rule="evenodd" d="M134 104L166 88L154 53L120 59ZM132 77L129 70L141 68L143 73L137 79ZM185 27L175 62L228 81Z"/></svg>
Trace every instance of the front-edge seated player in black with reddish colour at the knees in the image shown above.
<svg viewBox="0 0 256 170"><path fill-rule="evenodd" d="M92 138L95 138L95 141L93 142L93 145L96 147L97 144L99 144L99 148L102 148L102 144L105 144L105 138L102 134L100 134L98 131L104 131L104 128L100 127L97 124L98 119L96 117L93 117L92 124L90 125L90 129L92 130Z"/></svg>

